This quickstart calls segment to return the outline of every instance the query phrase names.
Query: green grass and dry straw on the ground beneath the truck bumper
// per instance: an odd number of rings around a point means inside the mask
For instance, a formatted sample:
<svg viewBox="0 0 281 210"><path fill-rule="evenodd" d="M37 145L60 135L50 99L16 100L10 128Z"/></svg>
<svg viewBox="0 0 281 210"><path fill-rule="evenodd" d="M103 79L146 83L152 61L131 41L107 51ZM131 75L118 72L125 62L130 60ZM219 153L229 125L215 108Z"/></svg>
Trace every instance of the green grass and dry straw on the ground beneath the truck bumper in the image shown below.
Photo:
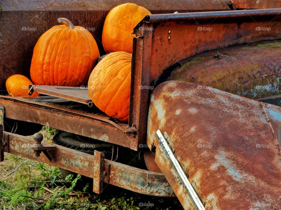
<svg viewBox="0 0 281 210"><path fill-rule="evenodd" d="M54 129L41 131L50 141ZM59 168L5 153L0 163L0 209L182 209L176 198L144 196L108 185L102 194L91 192L92 186L80 175L62 177Z"/></svg>

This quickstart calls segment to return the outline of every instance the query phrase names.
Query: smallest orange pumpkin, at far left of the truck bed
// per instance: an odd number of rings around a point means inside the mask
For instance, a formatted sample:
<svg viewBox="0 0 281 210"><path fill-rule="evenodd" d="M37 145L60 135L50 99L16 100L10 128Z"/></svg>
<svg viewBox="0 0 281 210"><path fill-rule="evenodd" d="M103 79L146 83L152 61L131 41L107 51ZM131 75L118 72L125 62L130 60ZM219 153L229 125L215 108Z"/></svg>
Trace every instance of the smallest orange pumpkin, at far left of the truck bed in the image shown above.
<svg viewBox="0 0 281 210"><path fill-rule="evenodd" d="M26 77L20 74L10 76L6 80L6 89L11 96L22 96L22 97L37 97L40 94L34 91L32 95L28 95L28 86L33 83Z"/></svg>

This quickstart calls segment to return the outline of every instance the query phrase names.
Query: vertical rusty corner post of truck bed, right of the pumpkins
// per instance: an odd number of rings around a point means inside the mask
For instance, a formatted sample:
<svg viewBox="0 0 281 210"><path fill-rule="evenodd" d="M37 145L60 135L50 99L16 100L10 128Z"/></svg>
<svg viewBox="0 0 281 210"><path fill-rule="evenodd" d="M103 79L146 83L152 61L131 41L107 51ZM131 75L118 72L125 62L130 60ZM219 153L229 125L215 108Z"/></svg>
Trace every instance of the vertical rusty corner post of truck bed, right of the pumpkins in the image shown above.
<svg viewBox="0 0 281 210"><path fill-rule="evenodd" d="M146 136L146 120L148 113L148 95L150 84L150 63L152 34L145 35L145 30L140 31L142 38L134 38L132 67L131 67L131 91L129 107L129 126L138 130L139 144L144 143ZM137 43L137 44L135 44ZM141 111L140 111L141 110ZM145 120L146 119L146 120ZM140 122L140 121L143 122Z"/></svg>

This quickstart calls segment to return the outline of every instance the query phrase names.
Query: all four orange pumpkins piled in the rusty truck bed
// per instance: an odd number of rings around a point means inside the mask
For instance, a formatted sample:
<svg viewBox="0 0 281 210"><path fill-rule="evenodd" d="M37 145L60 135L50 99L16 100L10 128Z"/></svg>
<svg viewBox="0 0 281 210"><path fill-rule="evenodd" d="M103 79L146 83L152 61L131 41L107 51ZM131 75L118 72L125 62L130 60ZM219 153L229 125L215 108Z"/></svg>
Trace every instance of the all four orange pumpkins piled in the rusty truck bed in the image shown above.
<svg viewBox="0 0 281 210"><path fill-rule="evenodd" d="M114 7L107 15L102 31L102 45L108 53L96 64L100 52L92 34L68 19L59 18L34 47L30 76L35 85L74 86L88 81L94 104L107 115L128 121L133 28L147 9L132 3ZM28 95L32 82L23 75L10 76L6 88L10 95Z"/></svg>

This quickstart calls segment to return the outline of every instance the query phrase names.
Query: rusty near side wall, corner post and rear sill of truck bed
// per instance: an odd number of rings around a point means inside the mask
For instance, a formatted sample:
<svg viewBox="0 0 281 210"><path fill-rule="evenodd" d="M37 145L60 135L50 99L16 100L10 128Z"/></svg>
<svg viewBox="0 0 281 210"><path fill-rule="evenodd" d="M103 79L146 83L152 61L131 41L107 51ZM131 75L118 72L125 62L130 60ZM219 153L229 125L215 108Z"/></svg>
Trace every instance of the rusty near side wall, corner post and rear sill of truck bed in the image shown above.
<svg viewBox="0 0 281 210"><path fill-rule="evenodd" d="M80 107L80 110L69 104L8 96L1 96L0 104L9 107L5 110L6 118L49 125L139 150L139 145L145 144L147 131L150 89L145 87L157 84L157 78L163 74L164 69L181 59L210 49L281 38L280 20L280 9L146 16L134 29L128 123L112 121L95 107L89 110L85 104L87 100L84 100L84 107ZM271 30L256 30L261 26ZM153 30L139 30L140 27ZM198 27L209 27L212 30L205 33Z"/></svg>

